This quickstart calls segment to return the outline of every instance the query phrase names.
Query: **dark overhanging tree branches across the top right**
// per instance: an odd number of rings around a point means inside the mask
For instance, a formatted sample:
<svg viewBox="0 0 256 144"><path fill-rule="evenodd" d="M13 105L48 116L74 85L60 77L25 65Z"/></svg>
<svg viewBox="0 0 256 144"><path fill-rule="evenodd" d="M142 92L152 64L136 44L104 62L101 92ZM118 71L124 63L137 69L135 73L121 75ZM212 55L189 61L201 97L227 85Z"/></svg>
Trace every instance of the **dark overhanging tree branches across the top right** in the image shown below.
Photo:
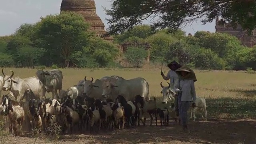
<svg viewBox="0 0 256 144"><path fill-rule="evenodd" d="M198 18L202 24L212 22L217 16L244 30L256 28L256 3L254 0L112 0L106 9L108 34L118 34L151 18L153 28L170 28L169 32L190 24ZM157 17L157 20L154 18Z"/></svg>

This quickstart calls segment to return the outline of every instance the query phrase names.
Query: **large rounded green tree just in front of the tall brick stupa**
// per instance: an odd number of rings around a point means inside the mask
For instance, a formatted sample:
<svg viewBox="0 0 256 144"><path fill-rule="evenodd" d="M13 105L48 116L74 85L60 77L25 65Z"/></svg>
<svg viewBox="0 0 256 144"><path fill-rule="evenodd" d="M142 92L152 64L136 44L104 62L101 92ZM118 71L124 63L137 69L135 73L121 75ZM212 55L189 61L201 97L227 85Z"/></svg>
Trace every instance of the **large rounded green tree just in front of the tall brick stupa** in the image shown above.
<svg viewBox="0 0 256 144"><path fill-rule="evenodd" d="M74 12L62 12L41 18L36 24L35 43L46 49L44 65L72 66L72 62L78 60L92 36L88 28L89 25L82 15Z"/></svg>

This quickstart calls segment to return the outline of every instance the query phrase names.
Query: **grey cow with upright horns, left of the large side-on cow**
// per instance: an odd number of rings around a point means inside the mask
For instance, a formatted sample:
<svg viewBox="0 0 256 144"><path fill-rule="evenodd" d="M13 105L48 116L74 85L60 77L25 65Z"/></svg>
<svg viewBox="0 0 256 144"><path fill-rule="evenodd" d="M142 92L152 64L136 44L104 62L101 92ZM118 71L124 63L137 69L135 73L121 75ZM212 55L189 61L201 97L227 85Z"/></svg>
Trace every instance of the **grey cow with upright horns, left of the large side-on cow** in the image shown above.
<svg viewBox="0 0 256 144"><path fill-rule="evenodd" d="M102 80L95 80L93 83L92 80L86 80L86 76L84 77L84 96L90 96L94 99L104 100L102 97Z"/></svg>

